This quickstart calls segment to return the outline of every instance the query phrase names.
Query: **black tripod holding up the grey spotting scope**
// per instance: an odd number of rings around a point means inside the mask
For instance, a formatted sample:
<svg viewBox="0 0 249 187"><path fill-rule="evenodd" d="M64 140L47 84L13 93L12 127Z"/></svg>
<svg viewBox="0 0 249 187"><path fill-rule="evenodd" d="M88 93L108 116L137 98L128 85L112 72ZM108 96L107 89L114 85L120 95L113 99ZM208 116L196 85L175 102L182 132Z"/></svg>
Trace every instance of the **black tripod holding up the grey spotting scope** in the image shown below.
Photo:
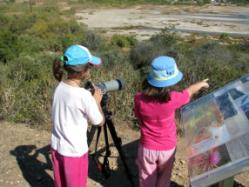
<svg viewBox="0 0 249 187"><path fill-rule="evenodd" d="M98 160L98 156L99 154L97 154L97 148L98 148L98 141L99 141L99 137L100 137L100 133L101 133L101 128L102 127L97 127L97 138L96 138L96 142L95 142L95 153L93 154L94 157L94 161L97 165L97 169L99 171L102 172L102 174L104 175L105 178L108 178L110 176L110 167L109 167L109 161L108 161L108 157L111 155L111 151L110 151L110 145L109 145L109 140L108 140L108 130L110 132L110 135L112 137L113 143L119 153L119 156L121 158L121 161L123 162L124 165L124 169L126 172L126 175L131 183L132 187L135 187L135 183L133 181L132 178L132 174L130 172L130 169L126 163L126 158L124 155L124 152L122 150L122 140L120 137L118 137L113 121L112 121L112 112L110 112L107 108L107 101L108 101L108 95L104 94L102 101L101 101L101 107L104 113L104 117L105 117L105 124L103 125L103 129L104 129L104 139L105 139L105 155L104 155L104 161L103 163L101 163ZM95 134L96 128L92 128L91 132L89 133L88 136L88 144L90 145L94 134Z"/></svg>

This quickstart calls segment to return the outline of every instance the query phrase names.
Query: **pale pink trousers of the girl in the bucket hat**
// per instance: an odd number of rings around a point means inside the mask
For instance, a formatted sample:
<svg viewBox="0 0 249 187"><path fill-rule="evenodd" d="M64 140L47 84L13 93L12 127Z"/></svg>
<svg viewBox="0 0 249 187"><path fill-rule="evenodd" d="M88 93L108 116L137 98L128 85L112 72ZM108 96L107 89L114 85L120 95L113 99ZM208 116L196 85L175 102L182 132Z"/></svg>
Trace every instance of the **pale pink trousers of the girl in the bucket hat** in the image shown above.
<svg viewBox="0 0 249 187"><path fill-rule="evenodd" d="M139 146L138 170L140 187L169 187L175 148L157 151Z"/></svg>

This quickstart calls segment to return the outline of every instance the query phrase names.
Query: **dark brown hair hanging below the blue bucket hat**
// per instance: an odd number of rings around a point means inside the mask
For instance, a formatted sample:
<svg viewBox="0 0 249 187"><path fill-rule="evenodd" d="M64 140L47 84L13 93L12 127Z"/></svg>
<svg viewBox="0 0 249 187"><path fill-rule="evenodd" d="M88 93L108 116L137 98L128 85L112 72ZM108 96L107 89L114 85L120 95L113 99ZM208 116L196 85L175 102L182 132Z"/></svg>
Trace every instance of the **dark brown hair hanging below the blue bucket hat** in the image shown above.
<svg viewBox="0 0 249 187"><path fill-rule="evenodd" d="M167 102L170 100L169 89L167 87L154 87L150 85L146 79L142 83L142 92L149 98L157 100L159 102Z"/></svg>

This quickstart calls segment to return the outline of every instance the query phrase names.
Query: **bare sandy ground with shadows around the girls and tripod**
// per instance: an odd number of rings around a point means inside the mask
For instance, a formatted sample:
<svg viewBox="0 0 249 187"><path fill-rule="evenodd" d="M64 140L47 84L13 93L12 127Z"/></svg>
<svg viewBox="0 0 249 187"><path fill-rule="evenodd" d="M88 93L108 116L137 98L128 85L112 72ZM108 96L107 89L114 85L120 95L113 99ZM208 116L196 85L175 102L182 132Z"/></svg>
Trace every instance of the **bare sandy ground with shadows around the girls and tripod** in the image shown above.
<svg viewBox="0 0 249 187"><path fill-rule="evenodd" d="M135 158L139 133L129 124L115 125L117 135L121 137L122 151L125 162L128 164L135 186L138 186L137 167ZM53 175L50 156L50 132L32 129L24 124L10 124L0 122L0 186L1 187L49 187L53 186ZM96 169L93 162L92 142L89 156L89 187L129 187L131 186L124 162L121 161L119 152L110 141L111 156L110 177L105 179ZM103 137L100 140L100 150ZM171 187L189 186L187 162L184 154L183 139L178 138L176 160L171 178ZM103 147L102 147L103 148ZM236 187L249 187L249 172L236 176Z"/></svg>

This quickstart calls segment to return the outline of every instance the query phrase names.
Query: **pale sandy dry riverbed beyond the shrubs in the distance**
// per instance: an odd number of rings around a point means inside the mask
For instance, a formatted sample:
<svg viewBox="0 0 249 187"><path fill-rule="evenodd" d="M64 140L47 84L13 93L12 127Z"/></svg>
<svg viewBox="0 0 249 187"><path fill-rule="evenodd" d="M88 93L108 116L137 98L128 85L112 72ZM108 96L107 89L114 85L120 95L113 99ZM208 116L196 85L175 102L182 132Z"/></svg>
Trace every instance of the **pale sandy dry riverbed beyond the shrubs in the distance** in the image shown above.
<svg viewBox="0 0 249 187"><path fill-rule="evenodd" d="M148 39L163 28L181 34L222 34L249 37L249 7L232 5L155 6L84 9L79 22L107 35L128 34Z"/></svg>

